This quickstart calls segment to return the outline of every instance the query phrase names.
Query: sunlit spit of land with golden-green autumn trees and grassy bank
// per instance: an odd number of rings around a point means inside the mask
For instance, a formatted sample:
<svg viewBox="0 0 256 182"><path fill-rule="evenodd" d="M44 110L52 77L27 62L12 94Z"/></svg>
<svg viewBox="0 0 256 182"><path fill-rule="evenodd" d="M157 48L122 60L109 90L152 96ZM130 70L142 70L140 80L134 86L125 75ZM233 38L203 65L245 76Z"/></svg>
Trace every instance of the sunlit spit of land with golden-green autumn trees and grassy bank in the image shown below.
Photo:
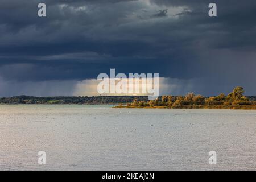
<svg viewBox="0 0 256 182"><path fill-rule="evenodd" d="M204 97L188 93L186 96L160 96L156 100L139 101L134 99L127 105L118 105L114 108L151 108L151 109L247 109L256 110L254 97L246 97L241 86L225 96Z"/></svg>

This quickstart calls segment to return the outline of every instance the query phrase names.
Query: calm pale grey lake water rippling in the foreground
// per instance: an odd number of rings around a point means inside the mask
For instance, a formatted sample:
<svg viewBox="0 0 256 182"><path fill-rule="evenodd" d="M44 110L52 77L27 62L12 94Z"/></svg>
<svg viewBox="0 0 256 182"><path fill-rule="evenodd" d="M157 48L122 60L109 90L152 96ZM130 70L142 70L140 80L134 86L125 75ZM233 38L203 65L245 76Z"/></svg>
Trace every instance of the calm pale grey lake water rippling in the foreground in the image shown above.
<svg viewBox="0 0 256 182"><path fill-rule="evenodd" d="M255 141L256 111L0 105L2 170L256 169Z"/></svg>

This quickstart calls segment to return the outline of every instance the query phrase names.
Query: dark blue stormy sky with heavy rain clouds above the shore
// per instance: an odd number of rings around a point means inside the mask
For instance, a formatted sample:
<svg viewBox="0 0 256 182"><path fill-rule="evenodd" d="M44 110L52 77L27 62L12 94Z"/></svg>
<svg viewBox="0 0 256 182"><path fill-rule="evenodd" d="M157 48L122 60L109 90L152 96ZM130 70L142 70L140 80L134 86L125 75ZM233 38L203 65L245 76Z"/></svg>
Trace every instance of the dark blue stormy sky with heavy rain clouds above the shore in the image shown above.
<svg viewBox="0 0 256 182"><path fill-rule="evenodd" d="M255 18L255 0L1 0L0 97L98 95L110 68L159 73L160 94L256 95Z"/></svg>

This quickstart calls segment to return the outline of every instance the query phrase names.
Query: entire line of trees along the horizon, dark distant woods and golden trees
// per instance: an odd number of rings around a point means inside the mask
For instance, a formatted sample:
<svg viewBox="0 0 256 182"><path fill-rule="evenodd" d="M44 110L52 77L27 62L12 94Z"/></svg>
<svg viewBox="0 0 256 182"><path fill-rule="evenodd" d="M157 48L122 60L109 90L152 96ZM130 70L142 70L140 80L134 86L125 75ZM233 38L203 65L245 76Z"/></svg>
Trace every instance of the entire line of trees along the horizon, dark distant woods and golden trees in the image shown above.
<svg viewBox="0 0 256 182"><path fill-rule="evenodd" d="M15 96L2 97L0 104L127 104L134 107L154 106L200 106L200 105L256 105L256 96L244 96L245 91L241 86L234 88L227 96L221 93L215 97L204 97L194 93L186 96L159 96L156 100L148 101L147 96L57 96L34 97Z"/></svg>

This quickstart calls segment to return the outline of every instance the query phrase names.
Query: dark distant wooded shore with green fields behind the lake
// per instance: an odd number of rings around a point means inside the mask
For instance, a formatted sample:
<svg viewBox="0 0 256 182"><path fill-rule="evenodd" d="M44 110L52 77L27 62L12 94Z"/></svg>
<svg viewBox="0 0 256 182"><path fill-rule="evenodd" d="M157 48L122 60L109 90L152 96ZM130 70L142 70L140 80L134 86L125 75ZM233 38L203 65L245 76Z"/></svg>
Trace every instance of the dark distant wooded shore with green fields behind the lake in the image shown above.
<svg viewBox="0 0 256 182"><path fill-rule="evenodd" d="M0 104L127 104L134 99L147 101L147 96L96 96L96 97L33 97L15 96L0 98Z"/></svg>

